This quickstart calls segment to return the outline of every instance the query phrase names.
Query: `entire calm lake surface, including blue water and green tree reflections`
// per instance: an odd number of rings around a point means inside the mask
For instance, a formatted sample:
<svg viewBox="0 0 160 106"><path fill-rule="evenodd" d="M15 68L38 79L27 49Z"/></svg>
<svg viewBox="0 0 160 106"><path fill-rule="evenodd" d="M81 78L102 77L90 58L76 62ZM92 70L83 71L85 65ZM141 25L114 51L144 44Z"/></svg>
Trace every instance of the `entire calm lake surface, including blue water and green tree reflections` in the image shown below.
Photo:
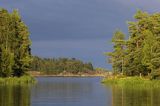
<svg viewBox="0 0 160 106"><path fill-rule="evenodd" d="M38 77L32 86L0 86L0 106L160 106L160 89L119 88L100 77Z"/></svg>

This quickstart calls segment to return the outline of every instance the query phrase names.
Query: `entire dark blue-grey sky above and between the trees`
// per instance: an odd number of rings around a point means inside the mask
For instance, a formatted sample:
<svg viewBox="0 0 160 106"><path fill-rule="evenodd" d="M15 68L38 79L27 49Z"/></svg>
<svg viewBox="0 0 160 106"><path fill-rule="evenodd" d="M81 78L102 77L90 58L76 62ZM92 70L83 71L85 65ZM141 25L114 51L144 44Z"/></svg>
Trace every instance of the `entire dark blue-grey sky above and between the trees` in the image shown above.
<svg viewBox="0 0 160 106"><path fill-rule="evenodd" d="M18 9L33 55L73 57L111 69L104 53L112 51L114 31L127 34L137 9L160 12L160 0L0 0L0 7Z"/></svg>

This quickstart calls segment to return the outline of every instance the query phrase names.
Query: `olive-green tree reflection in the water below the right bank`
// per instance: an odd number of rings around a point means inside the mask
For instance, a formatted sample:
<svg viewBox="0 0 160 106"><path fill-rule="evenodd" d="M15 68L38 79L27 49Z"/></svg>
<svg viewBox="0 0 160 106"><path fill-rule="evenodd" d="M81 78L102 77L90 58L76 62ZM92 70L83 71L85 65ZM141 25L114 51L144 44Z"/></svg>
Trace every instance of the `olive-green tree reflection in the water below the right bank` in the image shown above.
<svg viewBox="0 0 160 106"><path fill-rule="evenodd" d="M160 106L160 90L112 87L112 106Z"/></svg>

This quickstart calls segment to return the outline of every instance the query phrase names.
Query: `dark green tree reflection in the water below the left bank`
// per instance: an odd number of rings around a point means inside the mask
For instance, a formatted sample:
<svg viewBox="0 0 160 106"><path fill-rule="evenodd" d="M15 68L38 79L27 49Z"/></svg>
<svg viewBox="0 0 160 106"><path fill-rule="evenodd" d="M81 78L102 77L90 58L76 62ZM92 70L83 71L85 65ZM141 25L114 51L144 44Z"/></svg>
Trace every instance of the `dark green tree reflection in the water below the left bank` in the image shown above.
<svg viewBox="0 0 160 106"><path fill-rule="evenodd" d="M0 106L30 106L30 87L0 86Z"/></svg>

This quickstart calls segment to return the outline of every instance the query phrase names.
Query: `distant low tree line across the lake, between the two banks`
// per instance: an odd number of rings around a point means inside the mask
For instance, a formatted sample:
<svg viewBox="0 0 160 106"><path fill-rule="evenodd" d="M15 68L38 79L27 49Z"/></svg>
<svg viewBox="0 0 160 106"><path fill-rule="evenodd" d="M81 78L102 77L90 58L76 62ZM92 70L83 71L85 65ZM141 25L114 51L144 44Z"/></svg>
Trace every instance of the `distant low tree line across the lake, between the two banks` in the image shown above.
<svg viewBox="0 0 160 106"><path fill-rule="evenodd" d="M40 58L33 57L32 71L40 71L45 74L60 74L63 72L78 74L94 71L92 63L84 63L75 58Z"/></svg>

